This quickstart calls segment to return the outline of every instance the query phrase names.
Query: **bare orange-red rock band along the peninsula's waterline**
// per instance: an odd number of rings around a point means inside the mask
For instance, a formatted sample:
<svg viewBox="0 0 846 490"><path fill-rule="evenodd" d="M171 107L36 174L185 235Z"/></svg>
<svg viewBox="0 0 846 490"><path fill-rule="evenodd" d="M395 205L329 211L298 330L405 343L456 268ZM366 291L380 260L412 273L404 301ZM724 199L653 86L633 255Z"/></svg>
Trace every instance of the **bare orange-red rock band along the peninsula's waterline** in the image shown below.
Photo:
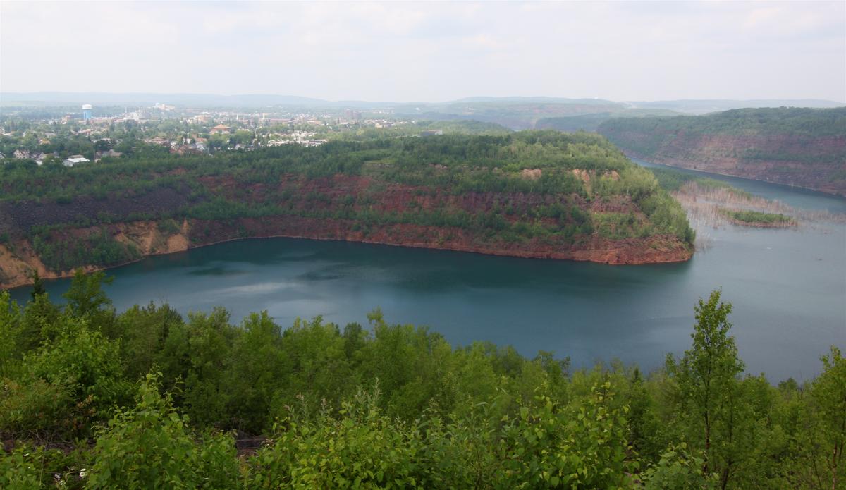
<svg viewBox="0 0 846 490"><path fill-rule="evenodd" d="M538 259L563 259L607 264L649 264L684 262L693 255L691 247L673 235L655 235L645 239L610 240L591 237L573 245L549 245L540 240L520 242L482 241L463 228L433 227L412 223L374 225L367 231L352 220L319 219L297 216L236 218L231 220L185 219L179 231L162 232L156 221L138 221L107 225L118 241L135 246L141 256L187 251L224 241L248 238L333 239L370 244L398 245L450 251L474 252L496 256ZM100 227L75 228L69 234L91 234ZM112 267L118 267L116 264ZM87 272L102 269L88 265ZM0 245L0 289L31 284L30 275L41 278L67 278L74 271L51 271L41 262L26 239Z"/></svg>

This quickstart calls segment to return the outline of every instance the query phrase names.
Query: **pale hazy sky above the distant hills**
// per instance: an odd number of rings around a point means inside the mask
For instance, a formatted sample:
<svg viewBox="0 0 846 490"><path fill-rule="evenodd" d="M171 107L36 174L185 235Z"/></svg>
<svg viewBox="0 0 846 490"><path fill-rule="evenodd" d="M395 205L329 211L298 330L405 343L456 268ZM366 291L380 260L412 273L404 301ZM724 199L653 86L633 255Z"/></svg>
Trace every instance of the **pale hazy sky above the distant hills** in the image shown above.
<svg viewBox="0 0 846 490"><path fill-rule="evenodd" d="M846 102L846 2L2 0L0 91Z"/></svg>

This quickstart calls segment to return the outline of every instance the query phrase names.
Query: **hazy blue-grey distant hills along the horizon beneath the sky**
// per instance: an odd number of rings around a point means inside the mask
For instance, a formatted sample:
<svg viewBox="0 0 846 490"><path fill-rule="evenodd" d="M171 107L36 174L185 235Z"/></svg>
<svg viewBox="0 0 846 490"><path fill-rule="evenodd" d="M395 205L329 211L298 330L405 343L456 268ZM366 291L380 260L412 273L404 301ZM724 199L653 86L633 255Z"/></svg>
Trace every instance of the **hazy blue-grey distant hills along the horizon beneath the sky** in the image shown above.
<svg viewBox="0 0 846 490"><path fill-rule="evenodd" d="M846 107L833 101L805 100L677 100L615 102L606 99L547 96L472 96L447 102L328 101L304 96L275 94L153 94L105 92L0 93L0 107L71 107L84 103L104 106L151 105L156 102L179 107L257 109L302 107L304 109L354 108L393 113L416 120L473 120L500 124L509 129L558 129L594 131L609 118L704 114L743 107Z"/></svg>

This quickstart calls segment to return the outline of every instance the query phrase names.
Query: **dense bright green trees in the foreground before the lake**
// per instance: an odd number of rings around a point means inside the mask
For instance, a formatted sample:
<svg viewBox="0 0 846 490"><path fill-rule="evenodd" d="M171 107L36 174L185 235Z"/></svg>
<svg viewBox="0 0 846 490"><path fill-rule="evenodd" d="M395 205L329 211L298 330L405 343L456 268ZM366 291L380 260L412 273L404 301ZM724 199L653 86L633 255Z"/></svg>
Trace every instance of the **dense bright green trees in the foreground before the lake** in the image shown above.
<svg viewBox="0 0 846 490"><path fill-rule="evenodd" d="M744 373L719 291L652 373L427 328L0 294L3 488L843 488L846 360Z"/></svg>

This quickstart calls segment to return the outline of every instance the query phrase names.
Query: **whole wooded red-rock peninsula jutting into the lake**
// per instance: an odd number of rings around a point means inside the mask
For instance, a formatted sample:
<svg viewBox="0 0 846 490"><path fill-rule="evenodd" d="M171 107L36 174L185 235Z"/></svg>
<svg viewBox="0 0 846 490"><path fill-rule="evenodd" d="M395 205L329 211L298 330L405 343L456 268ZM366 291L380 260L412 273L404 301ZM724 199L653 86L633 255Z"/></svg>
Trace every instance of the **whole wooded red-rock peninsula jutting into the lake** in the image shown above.
<svg viewBox="0 0 846 490"><path fill-rule="evenodd" d="M678 202L599 135L365 138L0 168L0 288L246 238L680 262Z"/></svg>

